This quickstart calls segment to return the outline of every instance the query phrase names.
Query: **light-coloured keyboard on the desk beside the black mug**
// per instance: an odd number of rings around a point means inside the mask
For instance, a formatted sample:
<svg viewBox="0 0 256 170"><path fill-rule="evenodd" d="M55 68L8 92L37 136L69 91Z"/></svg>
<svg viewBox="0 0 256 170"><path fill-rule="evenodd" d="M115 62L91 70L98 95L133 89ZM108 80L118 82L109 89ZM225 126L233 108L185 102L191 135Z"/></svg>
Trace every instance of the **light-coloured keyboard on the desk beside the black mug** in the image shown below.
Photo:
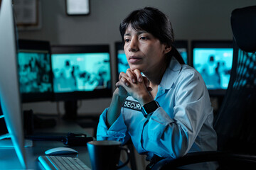
<svg viewBox="0 0 256 170"><path fill-rule="evenodd" d="M76 157L60 157L60 156L40 156L39 162L43 165L43 168L48 169L60 169L60 170L91 170L86 164Z"/></svg>

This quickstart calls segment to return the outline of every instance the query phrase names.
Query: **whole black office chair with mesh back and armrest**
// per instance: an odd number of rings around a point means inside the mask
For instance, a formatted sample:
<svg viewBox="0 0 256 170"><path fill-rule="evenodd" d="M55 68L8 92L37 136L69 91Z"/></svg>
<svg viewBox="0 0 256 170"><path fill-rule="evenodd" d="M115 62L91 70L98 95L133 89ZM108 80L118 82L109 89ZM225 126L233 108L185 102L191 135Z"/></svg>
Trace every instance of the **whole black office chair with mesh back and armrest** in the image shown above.
<svg viewBox="0 0 256 170"><path fill-rule="evenodd" d="M199 162L218 162L218 169L256 169L256 6L231 15L233 66L223 104L213 127L218 151L188 153L163 159L153 167L176 169Z"/></svg>

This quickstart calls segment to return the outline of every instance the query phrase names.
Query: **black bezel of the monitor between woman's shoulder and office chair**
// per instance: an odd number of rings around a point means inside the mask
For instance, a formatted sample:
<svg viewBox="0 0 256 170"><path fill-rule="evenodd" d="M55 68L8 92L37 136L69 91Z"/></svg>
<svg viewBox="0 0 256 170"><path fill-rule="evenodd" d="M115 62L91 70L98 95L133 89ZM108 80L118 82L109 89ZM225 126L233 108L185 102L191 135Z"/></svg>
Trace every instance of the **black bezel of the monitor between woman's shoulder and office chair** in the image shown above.
<svg viewBox="0 0 256 170"><path fill-rule="evenodd" d="M194 67L194 48L232 48L233 40L192 40L191 41L191 66ZM224 96L227 89L208 89L210 96Z"/></svg>

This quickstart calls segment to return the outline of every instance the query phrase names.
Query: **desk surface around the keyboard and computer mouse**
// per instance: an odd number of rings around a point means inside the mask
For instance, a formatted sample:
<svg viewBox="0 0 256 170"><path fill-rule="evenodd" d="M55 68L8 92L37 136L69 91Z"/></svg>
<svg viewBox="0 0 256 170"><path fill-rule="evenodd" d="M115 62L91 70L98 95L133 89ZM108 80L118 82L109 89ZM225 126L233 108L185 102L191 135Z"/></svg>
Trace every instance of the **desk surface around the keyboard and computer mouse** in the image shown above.
<svg viewBox="0 0 256 170"><path fill-rule="evenodd" d="M71 122L58 123L55 128L46 130L38 130L37 132L49 133L85 133L79 125ZM43 169L38 162L40 155L45 155L45 151L53 147L64 147L63 142L58 141L33 141L33 147L26 147L26 164L28 169ZM71 147L78 151L77 155L70 154L68 157L78 157L87 166L91 167L90 157L86 146ZM18 157L14 148L0 148L0 169L21 169L21 164L18 162ZM124 169L128 169L125 167Z"/></svg>

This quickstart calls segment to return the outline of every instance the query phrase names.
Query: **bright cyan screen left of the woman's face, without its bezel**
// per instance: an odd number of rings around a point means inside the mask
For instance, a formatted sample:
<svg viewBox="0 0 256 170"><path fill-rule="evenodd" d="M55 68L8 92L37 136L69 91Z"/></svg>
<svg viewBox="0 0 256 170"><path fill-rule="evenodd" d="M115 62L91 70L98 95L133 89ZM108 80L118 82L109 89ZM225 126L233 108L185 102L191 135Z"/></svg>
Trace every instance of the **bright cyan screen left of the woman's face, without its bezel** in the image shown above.
<svg viewBox="0 0 256 170"><path fill-rule="evenodd" d="M53 54L55 93L111 88L110 54Z"/></svg>

